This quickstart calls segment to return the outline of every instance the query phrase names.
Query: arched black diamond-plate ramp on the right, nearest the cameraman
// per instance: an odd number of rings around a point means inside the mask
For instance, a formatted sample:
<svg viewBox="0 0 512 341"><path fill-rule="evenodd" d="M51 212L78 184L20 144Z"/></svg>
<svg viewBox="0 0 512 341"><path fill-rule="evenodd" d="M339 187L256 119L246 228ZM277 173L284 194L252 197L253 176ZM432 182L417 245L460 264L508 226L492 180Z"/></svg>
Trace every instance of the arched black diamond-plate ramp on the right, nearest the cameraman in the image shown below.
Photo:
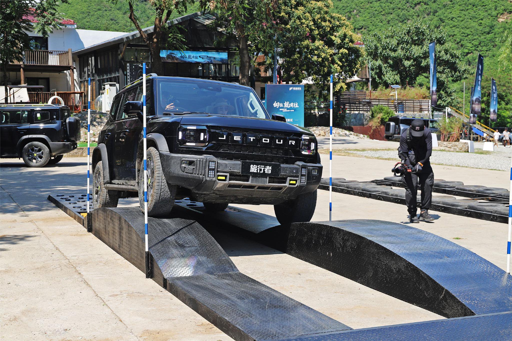
<svg viewBox="0 0 512 341"><path fill-rule="evenodd" d="M512 276L462 246L408 225L338 220L285 228L274 217L249 210L212 214L200 205L181 207L205 226L238 228L258 242L445 317L512 310Z"/></svg>

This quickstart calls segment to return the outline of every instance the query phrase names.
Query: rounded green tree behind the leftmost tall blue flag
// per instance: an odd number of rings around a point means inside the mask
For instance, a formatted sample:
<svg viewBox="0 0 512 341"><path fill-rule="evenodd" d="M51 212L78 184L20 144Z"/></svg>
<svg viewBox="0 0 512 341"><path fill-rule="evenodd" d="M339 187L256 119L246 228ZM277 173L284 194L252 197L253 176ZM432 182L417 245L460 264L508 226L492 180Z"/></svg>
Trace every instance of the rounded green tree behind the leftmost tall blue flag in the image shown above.
<svg viewBox="0 0 512 341"><path fill-rule="evenodd" d="M446 43L446 34L442 30L435 30L420 21L376 32L365 39L375 85L414 85L418 77L429 72L431 41L436 41L439 106L453 104L455 90L446 83L467 77L469 68L460 62L457 49Z"/></svg>

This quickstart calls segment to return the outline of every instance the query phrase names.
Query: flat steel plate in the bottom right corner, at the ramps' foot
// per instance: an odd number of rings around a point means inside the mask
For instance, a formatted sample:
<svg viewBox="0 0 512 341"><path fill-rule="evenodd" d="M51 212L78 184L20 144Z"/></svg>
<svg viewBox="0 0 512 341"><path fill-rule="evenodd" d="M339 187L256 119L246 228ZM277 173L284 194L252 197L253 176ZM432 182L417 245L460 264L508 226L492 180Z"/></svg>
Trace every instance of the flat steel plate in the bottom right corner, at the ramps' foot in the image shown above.
<svg viewBox="0 0 512 341"><path fill-rule="evenodd" d="M512 340L512 312L282 338L301 341L505 341Z"/></svg>

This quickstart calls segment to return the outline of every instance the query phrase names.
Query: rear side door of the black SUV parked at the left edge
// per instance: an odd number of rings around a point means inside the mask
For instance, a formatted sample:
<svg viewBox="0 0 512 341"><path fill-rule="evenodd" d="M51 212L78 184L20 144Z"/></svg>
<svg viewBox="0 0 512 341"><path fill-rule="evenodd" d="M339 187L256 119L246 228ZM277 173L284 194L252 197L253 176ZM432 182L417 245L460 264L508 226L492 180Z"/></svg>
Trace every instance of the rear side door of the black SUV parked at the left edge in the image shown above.
<svg viewBox="0 0 512 341"><path fill-rule="evenodd" d="M0 110L0 154L16 156L18 141L24 137L30 127L32 110L2 109Z"/></svg>

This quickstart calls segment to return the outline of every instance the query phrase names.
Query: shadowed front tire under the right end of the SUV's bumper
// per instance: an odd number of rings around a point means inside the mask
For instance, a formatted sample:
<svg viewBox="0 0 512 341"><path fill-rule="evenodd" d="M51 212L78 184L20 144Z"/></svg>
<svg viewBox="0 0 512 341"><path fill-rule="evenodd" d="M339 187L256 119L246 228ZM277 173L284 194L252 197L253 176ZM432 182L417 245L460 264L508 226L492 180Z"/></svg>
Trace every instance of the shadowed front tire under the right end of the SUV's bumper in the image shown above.
<svg viewBox="0 0 512 341"><path fill-rule="evenodd" d="M295 199L274 205L275 217L281 225L311 221L316 207L316 191L297 196Z"/></svg>

